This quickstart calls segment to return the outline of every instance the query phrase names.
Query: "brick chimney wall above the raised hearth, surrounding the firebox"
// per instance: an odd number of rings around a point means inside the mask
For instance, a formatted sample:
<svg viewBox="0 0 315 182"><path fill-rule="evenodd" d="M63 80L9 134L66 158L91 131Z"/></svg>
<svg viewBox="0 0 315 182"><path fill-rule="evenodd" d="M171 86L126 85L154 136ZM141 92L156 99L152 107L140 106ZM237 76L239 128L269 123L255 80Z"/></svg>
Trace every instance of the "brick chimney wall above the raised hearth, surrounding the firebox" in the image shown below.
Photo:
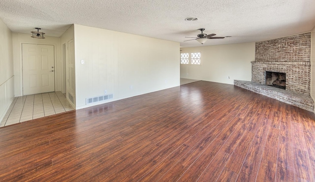
<svg viewBox="0 0 315 182"><path fill-rule="evenodd" d="M252 82L266 84L266 71L286 73L285 90L310 94L311 33L256 42Z"/></svg>

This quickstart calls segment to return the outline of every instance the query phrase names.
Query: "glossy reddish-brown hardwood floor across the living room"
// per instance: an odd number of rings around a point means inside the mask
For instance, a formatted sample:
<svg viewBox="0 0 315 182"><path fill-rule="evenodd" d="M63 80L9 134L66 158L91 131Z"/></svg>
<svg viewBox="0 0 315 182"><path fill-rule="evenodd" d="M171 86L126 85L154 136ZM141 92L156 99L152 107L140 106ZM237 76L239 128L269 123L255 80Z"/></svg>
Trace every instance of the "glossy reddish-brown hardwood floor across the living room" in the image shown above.
<svg viewBox="0 0 315 182"><path fill-rule="evenodd" d="M315 115L199 81L0 128L0 181L315 181Z"/></svg>

